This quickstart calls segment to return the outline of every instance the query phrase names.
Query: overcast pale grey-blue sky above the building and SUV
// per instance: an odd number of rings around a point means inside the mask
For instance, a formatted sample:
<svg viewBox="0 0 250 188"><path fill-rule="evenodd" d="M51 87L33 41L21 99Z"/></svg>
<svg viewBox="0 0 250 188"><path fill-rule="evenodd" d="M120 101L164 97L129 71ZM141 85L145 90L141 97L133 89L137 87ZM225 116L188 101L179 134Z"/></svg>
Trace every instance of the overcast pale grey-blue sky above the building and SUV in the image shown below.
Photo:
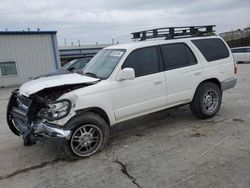
<svg viewBox="0 0 250 188"><path fill-rule="evenodd" d="M133 31L217 25L250 26L250 0L0 0L0 30L57 30L58 42L128 42Z"/></svg>

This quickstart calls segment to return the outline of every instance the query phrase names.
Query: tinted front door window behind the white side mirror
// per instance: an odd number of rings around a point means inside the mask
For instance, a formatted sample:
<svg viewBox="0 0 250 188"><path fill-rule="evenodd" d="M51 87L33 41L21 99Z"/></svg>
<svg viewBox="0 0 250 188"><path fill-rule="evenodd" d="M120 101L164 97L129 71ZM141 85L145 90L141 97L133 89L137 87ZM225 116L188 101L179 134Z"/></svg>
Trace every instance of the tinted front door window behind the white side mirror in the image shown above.
<svg viewBox="0 0 250 188"><path fill-rule="evenodd" d="M135 76L144 76L159 72L159 60L156 47L142 48L133 51L122 68L130 67L135 70Z"/></svg>

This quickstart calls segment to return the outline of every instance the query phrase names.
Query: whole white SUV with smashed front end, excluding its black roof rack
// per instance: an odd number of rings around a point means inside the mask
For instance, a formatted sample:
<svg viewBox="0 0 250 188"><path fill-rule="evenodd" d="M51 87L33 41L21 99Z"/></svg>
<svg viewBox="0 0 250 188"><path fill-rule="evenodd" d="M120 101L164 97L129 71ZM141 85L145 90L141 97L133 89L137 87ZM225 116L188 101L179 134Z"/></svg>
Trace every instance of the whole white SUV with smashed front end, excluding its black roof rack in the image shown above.
<svg viewBox="0 0 250 188"><path fill-rule="evenodd" d="M183 104L198 118L214 116L236 71L218 36L110 46L82 73L41 77L13 91L7 122L25 145L49 139L67 159L87 157L121 121Z"/></svg>

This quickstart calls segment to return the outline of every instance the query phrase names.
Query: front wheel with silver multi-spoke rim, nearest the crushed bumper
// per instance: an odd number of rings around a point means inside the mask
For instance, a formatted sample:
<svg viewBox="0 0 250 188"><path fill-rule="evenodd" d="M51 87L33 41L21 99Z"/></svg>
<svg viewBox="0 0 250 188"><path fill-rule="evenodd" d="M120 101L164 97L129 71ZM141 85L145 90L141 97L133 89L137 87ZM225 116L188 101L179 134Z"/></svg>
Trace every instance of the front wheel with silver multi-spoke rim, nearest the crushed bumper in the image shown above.
<svg viewBox="0 0 250 188"><path fill-rule="evenodd" d="M100 116L88 112L69 122L71 138L63 146L64 158L74 160L91 156L107 145L109 126Z"/></svg>

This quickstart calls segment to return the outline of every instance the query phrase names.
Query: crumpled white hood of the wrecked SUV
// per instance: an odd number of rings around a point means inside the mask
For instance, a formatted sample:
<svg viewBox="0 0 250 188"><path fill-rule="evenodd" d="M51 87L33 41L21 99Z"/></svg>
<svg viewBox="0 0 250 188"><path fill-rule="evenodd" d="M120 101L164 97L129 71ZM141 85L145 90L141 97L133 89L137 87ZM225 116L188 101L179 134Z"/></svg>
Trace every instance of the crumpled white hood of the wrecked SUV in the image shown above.
<svg viewBox="0 0 250 188"><path fill-rule="evenodd" d="M23 84L19 88L19 93L21 95L28 97L45 88L52 88L56 86L72 85L72 84L92 83L98 80L99 79L97 78L91 78L77 73L55 75L50 77L41 77Z"/></svg>

